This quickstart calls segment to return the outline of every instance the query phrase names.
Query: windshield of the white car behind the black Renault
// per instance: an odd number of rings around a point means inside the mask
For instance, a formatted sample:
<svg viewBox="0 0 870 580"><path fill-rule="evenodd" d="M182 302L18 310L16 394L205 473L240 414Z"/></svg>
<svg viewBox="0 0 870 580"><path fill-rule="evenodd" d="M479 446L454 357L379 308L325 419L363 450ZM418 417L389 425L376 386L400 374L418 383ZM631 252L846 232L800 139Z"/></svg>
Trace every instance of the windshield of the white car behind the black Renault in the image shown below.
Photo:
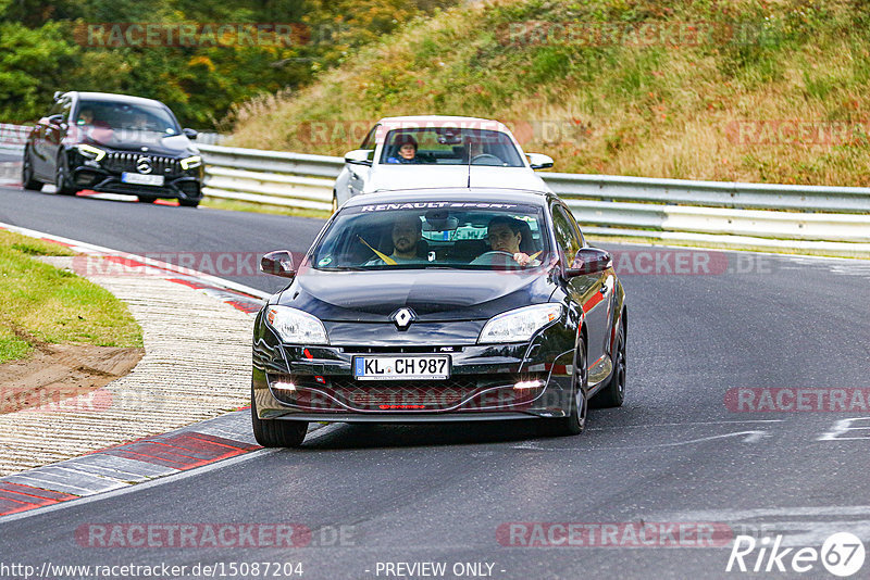
<svg viewBox="0 0 870 580"><path fill-rule="evenodd" d="M507 134L456 127L393 129L386 135L381 163L524 166Z"/></svg>

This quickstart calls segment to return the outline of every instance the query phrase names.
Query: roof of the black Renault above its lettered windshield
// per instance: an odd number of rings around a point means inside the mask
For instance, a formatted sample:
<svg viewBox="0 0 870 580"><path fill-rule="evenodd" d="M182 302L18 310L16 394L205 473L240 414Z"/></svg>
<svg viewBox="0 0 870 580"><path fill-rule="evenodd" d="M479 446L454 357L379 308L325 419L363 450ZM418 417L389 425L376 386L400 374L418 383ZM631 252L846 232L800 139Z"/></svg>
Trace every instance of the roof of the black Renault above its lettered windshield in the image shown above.
<svg viewBox="0 0 870 580"><path fill-rule="evenodd" d="M364 193L350 198L345 207L372 205L381 203L408 203L414 201L469 201L469 202L496 202L522 203L526 205L546 205L550 199L556 198L546 191L504 189L504 188L427 188L427 189L399 189L393 191L378 191Z"/></svg>

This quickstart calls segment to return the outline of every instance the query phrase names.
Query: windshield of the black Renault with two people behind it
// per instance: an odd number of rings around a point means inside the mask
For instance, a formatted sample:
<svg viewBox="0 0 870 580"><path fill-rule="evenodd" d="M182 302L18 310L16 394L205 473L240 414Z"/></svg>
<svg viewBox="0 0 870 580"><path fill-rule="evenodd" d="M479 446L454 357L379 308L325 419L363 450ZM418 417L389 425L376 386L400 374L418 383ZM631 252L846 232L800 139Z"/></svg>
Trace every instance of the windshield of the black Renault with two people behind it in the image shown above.
<svg viewBox="0 0 870 580"><path fill-rule="evenodd" d="M315 269L508 269L542 266L549 250L533 205L421 201L339 212L312 249Z"/></svg>

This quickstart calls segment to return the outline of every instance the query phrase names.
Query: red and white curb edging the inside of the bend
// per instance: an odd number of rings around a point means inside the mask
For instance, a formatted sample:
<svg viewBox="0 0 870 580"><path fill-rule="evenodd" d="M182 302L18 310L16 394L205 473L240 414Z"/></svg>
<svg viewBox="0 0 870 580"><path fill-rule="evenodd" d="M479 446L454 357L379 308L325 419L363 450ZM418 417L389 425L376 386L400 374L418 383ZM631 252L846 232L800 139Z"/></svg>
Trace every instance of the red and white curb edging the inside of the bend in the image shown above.
<svg viewBox="0 0 870 580"><path fill-rule="evenodd" d="M0 223L0 229L61 243L88 256L101 256L122 261L127 266L153 269L157 278L204 292L249 316L259 311L262 300L269 295L243 285L135 254L9 224ZM172 368L172 365L166 366L166 371L171 371ZM177 374L177 369L174 373ZM166 380L169 378L167 376ZM247 380L247 376L239 376L239 390L245 393L248 388ZM135 421L135 416L130 416L129 420ZM310 429L315 430L321 427L322 425L314 424ZM59 433L57 437L60 442L63 434ZM45 438L42 443L52 445L52 442ZM99 494L120 493L136 484L157 484L158 482L152 480L158 478L167 478L169 482L173 478L182 477L183 474L203 469L220 462L224 462L222 466L232 465L243 456L259 450L261 447L256 443L251 432L250 412L225 413L213 419L162 434L149 434L135 441L2 477L0 521L26 517L29 512L37 508L47 509L52 508L51 506L60 508L67 502Z"/></svg>

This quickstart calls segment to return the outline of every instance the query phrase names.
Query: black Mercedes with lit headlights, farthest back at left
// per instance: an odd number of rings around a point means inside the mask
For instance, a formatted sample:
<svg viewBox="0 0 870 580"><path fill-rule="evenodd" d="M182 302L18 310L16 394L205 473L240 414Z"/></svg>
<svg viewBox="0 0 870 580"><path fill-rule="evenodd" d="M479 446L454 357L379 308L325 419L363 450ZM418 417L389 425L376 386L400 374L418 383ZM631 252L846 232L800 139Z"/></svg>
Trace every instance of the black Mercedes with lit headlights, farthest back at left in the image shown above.
<svg viewBox="0 0 870 580"><path fill-rule="evenodd" d="M61 196L89 189L196 207L202 199L202 159L190 142L196 137L160 101L55 93L25 144L22 184L32 190L53 184Z"/></svg>

